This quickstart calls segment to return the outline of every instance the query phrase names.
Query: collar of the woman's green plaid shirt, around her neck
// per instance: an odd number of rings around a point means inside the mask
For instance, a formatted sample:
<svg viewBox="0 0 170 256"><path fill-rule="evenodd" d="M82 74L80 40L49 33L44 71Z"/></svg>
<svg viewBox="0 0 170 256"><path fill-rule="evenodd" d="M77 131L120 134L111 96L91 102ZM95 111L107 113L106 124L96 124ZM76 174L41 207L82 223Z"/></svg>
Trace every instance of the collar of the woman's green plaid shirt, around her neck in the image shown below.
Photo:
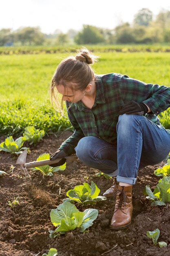
<svg viewBox="0 0 170 256"><path fill-rule="evenodd" d="M95 103L94 106L96 106L97 103L105 103L105 98L104 98L104 92L103 92L103 83L102 79L100 76L95 75L95 84L96 84L96 97L95 97ZM85 110L84 104L82 101L78 101L77 103L74 103L75 109L82 111ZM87 111L87 108L86 108Z"/></svg>

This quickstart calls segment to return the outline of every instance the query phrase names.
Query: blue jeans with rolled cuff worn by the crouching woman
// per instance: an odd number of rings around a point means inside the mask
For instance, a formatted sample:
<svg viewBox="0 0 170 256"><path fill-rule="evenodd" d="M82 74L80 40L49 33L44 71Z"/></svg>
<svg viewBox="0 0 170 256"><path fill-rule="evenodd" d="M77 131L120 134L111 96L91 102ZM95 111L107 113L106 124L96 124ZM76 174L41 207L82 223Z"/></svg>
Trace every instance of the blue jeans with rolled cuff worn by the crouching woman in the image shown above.
<svg viewBox="0 0 170 256"><path fill-rule="evenodd" d="M79 140L75 151L85 165L133 185L138 169L158 164L168 156L170 133L144 116L124 114L117 123L117 147L89 136Z"/></svg>

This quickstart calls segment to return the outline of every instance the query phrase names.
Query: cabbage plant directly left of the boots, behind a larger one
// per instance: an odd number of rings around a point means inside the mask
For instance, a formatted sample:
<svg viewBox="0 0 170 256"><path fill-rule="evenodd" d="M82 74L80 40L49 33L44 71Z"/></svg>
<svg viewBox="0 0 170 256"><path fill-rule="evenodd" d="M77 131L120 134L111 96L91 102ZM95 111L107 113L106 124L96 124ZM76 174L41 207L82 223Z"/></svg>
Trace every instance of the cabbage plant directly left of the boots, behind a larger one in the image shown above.
<svg viewBox="0 0 170 256"><path fill-rule="evenodd" d="M74 189L70 189L67 191L66 195L69 198L63 200L63 202L73 202L76 201L80 204L96 204L97 201L106 200L106 197L99 196L100 189L97 185L92 181L91 186L84 182L83 185L75 186Z"/></svg>

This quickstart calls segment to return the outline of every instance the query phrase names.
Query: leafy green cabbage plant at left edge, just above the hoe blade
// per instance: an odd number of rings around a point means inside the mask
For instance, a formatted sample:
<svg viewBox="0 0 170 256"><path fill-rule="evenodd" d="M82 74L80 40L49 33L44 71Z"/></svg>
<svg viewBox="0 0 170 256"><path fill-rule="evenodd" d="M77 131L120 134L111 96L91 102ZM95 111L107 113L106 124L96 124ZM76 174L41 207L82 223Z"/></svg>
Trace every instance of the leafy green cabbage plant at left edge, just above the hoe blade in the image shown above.
<svg viewBox="0 0 170 256"><path fill-rule="evenodd" d="M21 154L25 149L22 148L24 141L26 141L25 137L19 137L14 141L13 137L7 137L4 142L0 144L0 151L6 151L11 154Z"/></svg>

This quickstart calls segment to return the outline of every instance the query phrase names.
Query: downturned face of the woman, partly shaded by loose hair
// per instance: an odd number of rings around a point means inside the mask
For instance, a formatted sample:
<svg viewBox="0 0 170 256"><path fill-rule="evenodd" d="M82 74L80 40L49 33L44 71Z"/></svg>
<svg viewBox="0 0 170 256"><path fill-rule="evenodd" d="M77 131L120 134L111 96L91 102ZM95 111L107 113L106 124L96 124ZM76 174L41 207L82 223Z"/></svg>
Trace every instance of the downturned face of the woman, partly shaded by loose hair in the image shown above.
<svg viewBox="0 0 170 256"><path fill-rule="evenodd" d="M62 94L63 101L68 101L68 102L73 102L73 103L81 101L81 99L84 97L84 93L85 93L85 91L75 91L69 87L67 87L65 89L63 85L57 85L56 88L57 88L57 91L60 94Z"/></svg>

